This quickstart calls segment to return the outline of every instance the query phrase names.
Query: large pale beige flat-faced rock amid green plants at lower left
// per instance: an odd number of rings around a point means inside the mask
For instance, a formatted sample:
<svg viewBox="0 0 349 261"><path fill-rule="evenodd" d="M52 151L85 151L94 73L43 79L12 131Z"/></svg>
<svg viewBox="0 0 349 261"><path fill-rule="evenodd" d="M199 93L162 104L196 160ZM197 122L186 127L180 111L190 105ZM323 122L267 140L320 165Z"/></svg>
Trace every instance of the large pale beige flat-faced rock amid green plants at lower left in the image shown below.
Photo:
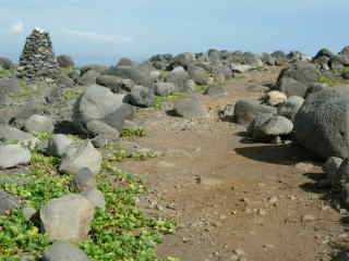
<svg viewBox="0 0 349 261"><path fill-rule="evenodd" d="M50 240L80 241L87 238L94 206L81 195L51 199L40 210L41 225Z"/></svg>

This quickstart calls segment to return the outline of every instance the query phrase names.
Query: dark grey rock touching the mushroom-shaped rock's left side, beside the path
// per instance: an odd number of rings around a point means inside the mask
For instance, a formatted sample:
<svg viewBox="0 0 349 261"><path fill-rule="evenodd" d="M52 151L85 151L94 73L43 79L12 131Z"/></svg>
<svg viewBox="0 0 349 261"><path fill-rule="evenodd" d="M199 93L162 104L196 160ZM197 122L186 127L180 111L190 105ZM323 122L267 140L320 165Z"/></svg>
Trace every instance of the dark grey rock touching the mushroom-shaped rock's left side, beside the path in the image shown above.
<svg viewBox="0 0 349 261"><path fill-rule="evenodd" d="M277 109L255 100L239 100L234 105L234 121L239 124L250 124L260 113L276 114Z"/></svg>

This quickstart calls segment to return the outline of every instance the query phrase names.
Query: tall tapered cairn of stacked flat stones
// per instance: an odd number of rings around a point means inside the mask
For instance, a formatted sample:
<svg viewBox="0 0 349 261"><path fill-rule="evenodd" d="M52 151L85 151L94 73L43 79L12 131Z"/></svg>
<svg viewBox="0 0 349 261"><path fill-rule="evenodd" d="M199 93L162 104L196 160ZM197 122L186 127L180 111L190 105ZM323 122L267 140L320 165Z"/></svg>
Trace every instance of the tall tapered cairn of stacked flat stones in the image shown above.
<svg viewBox="0 0 349 261"><path fill-rule="evenodd" d="M26 80L38 78L55 79L58 73L59 65L52 50L49 34L35 28L26 38L20 58L17 76Z"/></svg>

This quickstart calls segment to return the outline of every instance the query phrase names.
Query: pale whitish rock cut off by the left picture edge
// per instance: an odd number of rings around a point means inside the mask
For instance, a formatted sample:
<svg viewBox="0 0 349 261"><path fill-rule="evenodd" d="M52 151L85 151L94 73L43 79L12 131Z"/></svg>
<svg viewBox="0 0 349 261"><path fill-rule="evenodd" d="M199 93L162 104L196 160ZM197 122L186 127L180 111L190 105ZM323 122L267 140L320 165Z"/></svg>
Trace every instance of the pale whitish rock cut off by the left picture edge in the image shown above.
<svg viewBox="0 0 349 261"><path fill-rule="evenodd" d="M20 145L0 146L0 169L28 164L31 158L31 151Z"/></svg>

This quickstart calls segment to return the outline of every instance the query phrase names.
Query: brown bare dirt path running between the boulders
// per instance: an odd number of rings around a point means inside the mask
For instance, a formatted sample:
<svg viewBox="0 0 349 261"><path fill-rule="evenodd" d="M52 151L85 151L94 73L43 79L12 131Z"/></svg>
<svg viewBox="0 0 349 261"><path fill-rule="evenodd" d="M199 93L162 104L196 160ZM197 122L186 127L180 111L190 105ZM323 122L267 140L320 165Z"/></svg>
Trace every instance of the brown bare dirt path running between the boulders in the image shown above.
<svg viewBox="0 0 349 261"><path fill-rule="evenodd" d="M292 144L245 142L243 126L217 119L219 107L260 98L253 87L274 83L278 72L234 78L221 99L202 96L210 108L207 120L190 122L155 110L142 115L147 136L137 142L165 156L121 166L145 174L160 197L149 199L151 208L178 223L158 248L160 257L229 261L239 260L238 250L254 261L327 261L333 244L347 240L341 214L316 187L322 162Z"/></svg>

